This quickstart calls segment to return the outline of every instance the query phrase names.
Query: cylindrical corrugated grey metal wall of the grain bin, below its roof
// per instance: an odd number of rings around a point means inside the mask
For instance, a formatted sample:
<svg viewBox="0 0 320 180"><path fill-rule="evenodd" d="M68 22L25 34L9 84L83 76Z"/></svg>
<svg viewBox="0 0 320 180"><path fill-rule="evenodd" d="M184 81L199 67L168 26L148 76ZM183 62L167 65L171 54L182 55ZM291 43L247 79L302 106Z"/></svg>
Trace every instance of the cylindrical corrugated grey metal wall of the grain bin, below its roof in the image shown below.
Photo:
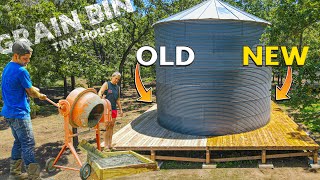
<svg viewBox="0 0 320 180"><path fill-rule="evenodd" d="M195 52L189 66L156 67L158 122L175 132L225 135L266 125L270 118L271 68L242 65L242 48L259 44L265 26L243 21L177 21L155 26L156 49ZM186 54L183 54L186 60Z"/></svg>

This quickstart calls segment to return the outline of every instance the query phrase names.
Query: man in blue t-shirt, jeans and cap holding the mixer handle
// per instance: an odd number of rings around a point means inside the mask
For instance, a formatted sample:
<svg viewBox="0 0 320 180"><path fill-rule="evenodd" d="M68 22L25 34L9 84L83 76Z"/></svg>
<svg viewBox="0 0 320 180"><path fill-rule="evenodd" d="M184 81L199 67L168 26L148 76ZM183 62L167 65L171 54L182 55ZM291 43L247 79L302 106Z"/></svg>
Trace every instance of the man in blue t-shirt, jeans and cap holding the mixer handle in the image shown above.
<svg viewBox="0 0 320 180"><path fill-rule="evenodd" d="M9 179L39 179L40 166L35 161L34 136L30 118L29 98L46 99L39 89L32 86L25 66L30 62L32 49L26 41L17 41L12 46L12 60L2 72L2 115L9 124L14 143L11 151ZM22 160L28 176L21 173Z"/></svg>

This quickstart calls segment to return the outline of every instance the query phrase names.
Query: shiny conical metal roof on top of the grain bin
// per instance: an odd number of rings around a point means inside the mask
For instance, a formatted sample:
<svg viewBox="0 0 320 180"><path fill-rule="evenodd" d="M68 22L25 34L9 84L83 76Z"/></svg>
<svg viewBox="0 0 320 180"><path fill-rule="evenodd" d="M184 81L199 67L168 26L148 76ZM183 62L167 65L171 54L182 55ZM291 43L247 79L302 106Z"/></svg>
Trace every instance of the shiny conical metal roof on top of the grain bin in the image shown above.
<svg viewBox="0 0 320 180"><path fill-rule="evenodd" d="M219 0L208 0L202 2L190 9L162 19L155 24L170 22L170 21L185 21L185 20L201 20L201 19L222 19L222 20L238 20L238 21L253 21L263 24L271 24L261 18L242 11L228 3Z"/></svg>

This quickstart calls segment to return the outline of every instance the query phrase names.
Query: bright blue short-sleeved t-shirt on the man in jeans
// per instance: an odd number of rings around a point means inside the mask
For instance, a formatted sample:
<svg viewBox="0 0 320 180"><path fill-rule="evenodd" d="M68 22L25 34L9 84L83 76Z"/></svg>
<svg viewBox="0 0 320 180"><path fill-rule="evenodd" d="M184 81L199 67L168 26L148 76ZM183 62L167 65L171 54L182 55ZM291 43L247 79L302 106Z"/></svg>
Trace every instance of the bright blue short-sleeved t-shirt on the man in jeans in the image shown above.
<svg viewBox="0 0 320 180"><path fill-rule="evenodd" d="M30 119L30 105L25 88L31 87L32 82L26 68L18 63L9 62L2 72L2 116Z"/></svg>

